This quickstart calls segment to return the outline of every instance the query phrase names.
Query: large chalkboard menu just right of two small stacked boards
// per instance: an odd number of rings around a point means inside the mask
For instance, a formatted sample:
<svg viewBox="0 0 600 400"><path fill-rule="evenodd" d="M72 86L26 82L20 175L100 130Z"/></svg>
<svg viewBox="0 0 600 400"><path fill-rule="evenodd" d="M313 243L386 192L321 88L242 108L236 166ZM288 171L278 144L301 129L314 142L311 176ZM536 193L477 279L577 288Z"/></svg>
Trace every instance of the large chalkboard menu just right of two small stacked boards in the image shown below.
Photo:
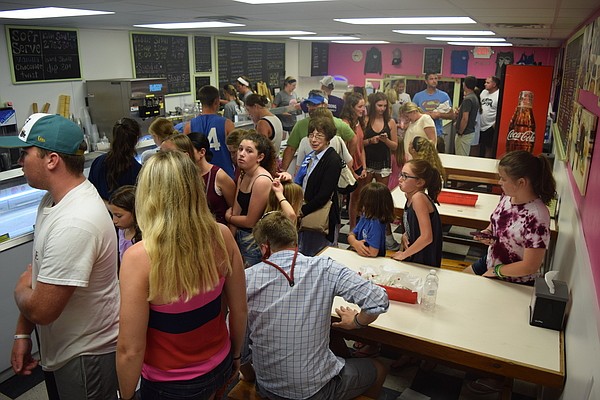
<svg viewBox="0 0 600 400"><path fill-rule="evenodd" d="M252 85L263 81L270 88L282 87L285 79L285 43L217 39L219 87L240 75Z"/></svg>

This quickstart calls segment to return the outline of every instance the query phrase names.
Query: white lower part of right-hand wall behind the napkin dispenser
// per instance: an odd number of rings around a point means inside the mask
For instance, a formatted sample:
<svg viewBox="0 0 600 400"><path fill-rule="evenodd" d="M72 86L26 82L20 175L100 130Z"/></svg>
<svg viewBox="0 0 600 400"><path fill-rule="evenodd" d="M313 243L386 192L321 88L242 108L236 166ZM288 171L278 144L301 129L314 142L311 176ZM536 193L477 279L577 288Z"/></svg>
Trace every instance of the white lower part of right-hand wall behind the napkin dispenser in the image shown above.
<svg viewBox="0 0 600 400"><path fill-rule="evenodd" d="M565 163L556 160L554 177L561 199L553 269L571 291L565 329L566 384L564 400L600 399L600 311L590 258Z"/></svg>

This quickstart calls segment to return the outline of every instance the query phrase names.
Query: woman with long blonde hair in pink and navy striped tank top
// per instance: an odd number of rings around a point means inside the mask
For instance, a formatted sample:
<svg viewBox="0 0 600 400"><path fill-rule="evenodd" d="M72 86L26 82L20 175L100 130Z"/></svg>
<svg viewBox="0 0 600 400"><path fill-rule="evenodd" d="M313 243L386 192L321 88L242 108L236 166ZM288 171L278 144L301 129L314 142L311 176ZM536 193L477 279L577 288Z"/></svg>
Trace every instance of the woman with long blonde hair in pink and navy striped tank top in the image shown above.
<svg viewBox="0 0 600 400"><path fill-rule="evenodd" d="M211 398L239 369L247 319L242 259L229 229L212 218L201 182L194 162L177 151L155 154L140 173L136 216L144 237L125 253L120 275L123 399L133 398L140 374L143 399Z"/></svg>

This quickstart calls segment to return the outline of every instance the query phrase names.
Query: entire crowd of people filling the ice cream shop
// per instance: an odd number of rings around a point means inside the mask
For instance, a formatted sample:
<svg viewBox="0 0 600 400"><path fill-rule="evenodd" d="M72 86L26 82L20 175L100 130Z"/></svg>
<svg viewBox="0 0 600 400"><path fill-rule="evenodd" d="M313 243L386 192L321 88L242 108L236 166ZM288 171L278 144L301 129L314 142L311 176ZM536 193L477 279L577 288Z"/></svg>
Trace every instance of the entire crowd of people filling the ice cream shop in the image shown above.
<svg viewBox="0 0 600 400"><path fill-rule="evenodd" d="M437 75L425 81L427 89L414 102L402 96L399 107L382 92L348 93L337 118L324 78L303 101L307 118L294 124L282 157L283 125L248 78L235 82L243 99L232 92L226 106L243 106L251 130L219 115L219 90L204 86L202 114L183 133L165 118L152 123L158 150L143 166L135 159L139 125L118 121L89 180L79 127L32 115L18 138L0 138L0 146L23 148L28 183L48 191L35 257L15 289L15 372L31 374L38 364L31 355L37 326L51 399L116 399L117 389L120 399L210 399L240 369L269 399L376 397L383 365L329 349L331 303L342 296L358 305L337 309L333 325L360 329L386 312L387 295L318 253L338 244L346 201L338 186L348 168L358 182L346 195L351 249L441 266L436 203L446 175L438 122L458 115L466 137L481 106L466 104L477 98L471 80L458 112L435 89ZM278 104L297 103L295 85L286 78ZM482 118L482 153L494 135L489 120ZM531 284L549 245L545 203L555 183L547 160L524 151L504 155L499 175L504 194L476 237L487 255L465 272ZM396 187L406 197L400 243L390 230Z"/></svg>

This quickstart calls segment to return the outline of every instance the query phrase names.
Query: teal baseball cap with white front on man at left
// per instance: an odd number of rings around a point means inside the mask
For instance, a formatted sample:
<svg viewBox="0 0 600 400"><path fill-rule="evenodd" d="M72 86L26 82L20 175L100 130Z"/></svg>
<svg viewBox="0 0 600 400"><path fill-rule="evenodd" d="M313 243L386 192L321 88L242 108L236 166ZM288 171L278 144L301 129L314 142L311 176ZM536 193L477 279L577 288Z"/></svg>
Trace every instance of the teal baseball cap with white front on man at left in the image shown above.
<svg viewBox="0 0 600 400"><path fill-rule="evenodd" d="M70 155L83 155L79 149L83 131L74 123L57 114L35 113L25 121L17 136L0 136L0 147L39 147Z"/></svg>

